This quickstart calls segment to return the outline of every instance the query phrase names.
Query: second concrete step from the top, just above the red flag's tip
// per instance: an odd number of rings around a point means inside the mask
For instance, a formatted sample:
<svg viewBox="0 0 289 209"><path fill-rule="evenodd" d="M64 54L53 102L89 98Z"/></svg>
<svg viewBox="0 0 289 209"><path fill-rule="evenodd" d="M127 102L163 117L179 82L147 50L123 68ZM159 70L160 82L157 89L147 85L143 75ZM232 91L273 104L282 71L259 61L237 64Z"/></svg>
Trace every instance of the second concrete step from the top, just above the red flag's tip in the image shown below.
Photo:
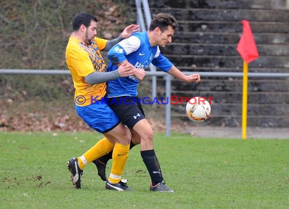
<svg viewBox="0 0 289 209"><path fill-rule="evenodd" d="M159 8L151 8L156 14ZM173 14L176 20L187 21L255 21L255 22L288 22L287 10L244 10L244 9L162 9L162 12Z"/></svg>

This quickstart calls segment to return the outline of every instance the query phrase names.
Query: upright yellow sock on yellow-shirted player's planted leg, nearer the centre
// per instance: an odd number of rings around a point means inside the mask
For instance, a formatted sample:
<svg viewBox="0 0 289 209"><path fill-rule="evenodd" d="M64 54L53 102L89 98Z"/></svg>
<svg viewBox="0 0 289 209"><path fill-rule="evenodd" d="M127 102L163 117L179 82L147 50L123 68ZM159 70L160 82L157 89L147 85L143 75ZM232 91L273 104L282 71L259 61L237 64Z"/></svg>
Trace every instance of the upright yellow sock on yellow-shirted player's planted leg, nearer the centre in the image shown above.
<svg viewBox="0 0 289 209"><path fill-rule="evenodd" d="M129 145L121 145L116 143L113 151L112 171L109 182L116 184L121 180L126 160L128 158Z"/></svg>

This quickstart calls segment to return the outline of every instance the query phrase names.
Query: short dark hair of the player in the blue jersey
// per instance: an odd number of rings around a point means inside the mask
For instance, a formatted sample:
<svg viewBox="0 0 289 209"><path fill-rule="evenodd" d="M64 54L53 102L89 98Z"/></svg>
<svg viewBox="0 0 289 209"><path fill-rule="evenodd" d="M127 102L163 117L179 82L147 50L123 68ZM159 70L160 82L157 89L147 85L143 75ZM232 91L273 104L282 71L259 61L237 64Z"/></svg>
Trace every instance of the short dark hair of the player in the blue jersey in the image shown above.
<svg viewBox="0 0 289 209"><path fill-rule="evenodd" d="M153 15L153 20L150 24L149 30L152 31L156 29L156 27L159 27L161 31L164 31L168 26L175 29L177 27L176 19L166 13L158 13Z"/></svg>

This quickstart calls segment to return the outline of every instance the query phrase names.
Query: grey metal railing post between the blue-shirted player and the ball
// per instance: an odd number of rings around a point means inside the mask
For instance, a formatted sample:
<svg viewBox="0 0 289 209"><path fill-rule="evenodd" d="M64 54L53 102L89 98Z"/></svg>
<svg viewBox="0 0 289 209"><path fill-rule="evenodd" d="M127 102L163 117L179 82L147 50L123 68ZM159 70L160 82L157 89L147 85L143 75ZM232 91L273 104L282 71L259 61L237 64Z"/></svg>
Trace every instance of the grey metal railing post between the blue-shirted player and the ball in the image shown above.
<svg viewBox="0 0 289 209"><path fill-rule="evenodd" d="M165 81L166 81L166 99L167 101L167 105L166 105L166 136L170 136L170 123L171 123L171 104L170 104L170 96L171 96L171 80L172 80L172 76L170 76L169 74L167 74L164 77Z"/></svg>

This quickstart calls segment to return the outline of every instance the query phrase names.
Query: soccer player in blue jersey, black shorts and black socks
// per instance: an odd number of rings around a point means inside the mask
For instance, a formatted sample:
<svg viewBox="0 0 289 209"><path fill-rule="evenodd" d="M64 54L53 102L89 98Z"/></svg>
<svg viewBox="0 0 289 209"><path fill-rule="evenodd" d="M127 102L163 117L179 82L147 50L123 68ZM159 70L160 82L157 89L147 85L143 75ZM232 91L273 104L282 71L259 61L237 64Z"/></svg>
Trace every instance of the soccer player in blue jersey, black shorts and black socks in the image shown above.
<svg viewBox="0 0 289 209"><path fill-rule="evenodd" d="M131 131L130 148L140 144L140 154L152 180L150 191L157 192L173 192L173 190L164 183L153 146L154 132L144 116L137 97L137 85L138 78L145 74L144 69L150 63L184 82L200 82L199 74L186 76L160 53L159 47L165 47L171 43L176 26L173 16L165 13L154 15L148 31L133 33L131 37L115 45L107 54L111 60L107 66L108 72L115 71L120 64L124 63L132 64L137 68L137 73L132 76L108 81L107 97L109 97L109 106ZM107 155L94 161L98 174L103 180L105 180L105 163L109 158L110 156Z"/></svg>

